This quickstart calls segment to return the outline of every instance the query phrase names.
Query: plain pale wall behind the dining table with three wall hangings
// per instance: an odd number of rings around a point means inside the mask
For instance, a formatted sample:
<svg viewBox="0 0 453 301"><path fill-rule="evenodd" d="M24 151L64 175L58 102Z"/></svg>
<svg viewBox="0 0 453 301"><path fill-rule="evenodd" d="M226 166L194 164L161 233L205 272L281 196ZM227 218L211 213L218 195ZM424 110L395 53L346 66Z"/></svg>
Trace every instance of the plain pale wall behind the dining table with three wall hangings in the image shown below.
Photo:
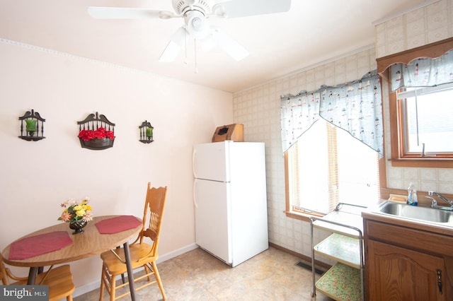
<svg viewBox="0 0 453 301"><path fill-rule="evenodd" d="M22 235L61 223L59 204L89 196L95 216L142 216L147 182L168 186L161 260L195 248L192 149L233 122L231 93L0 40L0 249ZM42 141L24 141L18 117L34 109ZM81 148L77 121L105 114L115 144ZM154 143L138 126L154 126ZM76 294L98 288L98 256L71 264ZM16 272L26 274L26 271Z"/></svg>

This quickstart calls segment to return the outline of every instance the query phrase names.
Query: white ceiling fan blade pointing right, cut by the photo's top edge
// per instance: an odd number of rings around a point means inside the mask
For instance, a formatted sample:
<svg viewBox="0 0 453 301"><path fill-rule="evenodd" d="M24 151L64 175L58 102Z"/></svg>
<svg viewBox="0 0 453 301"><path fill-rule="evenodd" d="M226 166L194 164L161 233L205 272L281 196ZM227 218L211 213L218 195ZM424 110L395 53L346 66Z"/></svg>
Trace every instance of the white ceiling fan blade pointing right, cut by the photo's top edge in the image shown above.
<svg viewBox="0 0 453 301"><path fill-rule="evenodd" d="M219 5L223 6L222 13L226 18L239 18L268 13L285 13L291 8L291 0L231 0Z"/></svg>

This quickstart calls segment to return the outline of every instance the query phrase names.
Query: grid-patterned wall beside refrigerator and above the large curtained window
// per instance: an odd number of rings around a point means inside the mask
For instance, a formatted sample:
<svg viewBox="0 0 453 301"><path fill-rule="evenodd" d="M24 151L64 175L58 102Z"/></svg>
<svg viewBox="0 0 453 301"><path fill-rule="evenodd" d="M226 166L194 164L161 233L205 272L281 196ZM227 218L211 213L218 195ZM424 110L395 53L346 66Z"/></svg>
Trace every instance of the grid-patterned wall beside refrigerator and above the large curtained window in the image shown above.
<svg viewBox="0 0 453 301"><path fill-rule="evenodd" d="M245 140L265 142L270 242L311 256L309 223L287 218L284 212L285 166L280 136L280 95L315 90L323 84L345 83L374 69L374 48L368 47L348 57L327 61L234 94L234 122L244 124Z"/></svg>

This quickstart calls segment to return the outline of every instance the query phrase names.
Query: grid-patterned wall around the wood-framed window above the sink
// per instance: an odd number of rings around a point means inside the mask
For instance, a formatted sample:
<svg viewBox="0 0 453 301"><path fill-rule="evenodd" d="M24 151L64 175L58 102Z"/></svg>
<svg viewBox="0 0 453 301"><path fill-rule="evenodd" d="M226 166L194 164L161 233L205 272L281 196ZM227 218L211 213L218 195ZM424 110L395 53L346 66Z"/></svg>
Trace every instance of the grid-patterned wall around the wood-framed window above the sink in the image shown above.
<svg viewBox="0 0 453 301"><path fill-rule="evenodd" d="M440 0L376 24L377 57L385 57L404 50L453 37L453 0ZM384 92L387 90L383 89ZM384 98L387 98L384 95ZM385 119L388 121L388 111ZM389 123L386 123L389 128ZM386 132L386 153L390 153L390 134ZM453 194L453 170L447 168L392 167L386 161L387 187L406 189L415 182L421 191L440 191ZM420 196L419 196L420 197Z"/></svg>

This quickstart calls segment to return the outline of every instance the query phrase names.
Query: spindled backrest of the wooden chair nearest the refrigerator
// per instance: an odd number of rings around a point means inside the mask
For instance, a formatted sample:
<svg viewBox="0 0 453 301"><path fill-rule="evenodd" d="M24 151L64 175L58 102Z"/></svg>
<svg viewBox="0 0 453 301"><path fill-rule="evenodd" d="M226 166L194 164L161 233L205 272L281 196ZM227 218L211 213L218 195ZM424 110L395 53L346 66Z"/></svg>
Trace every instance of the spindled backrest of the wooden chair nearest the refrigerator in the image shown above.
<svg viewBox="0 0 453 301"><path fill-rule="evenodd" d="M155 188L151 187L151 183L148 183L147 198L143 211L143 229L139 234L139 242L142 243L144 237L149 237L153 241L154 254L156 254L159 244L166 194L167 187Z"/></svg>

